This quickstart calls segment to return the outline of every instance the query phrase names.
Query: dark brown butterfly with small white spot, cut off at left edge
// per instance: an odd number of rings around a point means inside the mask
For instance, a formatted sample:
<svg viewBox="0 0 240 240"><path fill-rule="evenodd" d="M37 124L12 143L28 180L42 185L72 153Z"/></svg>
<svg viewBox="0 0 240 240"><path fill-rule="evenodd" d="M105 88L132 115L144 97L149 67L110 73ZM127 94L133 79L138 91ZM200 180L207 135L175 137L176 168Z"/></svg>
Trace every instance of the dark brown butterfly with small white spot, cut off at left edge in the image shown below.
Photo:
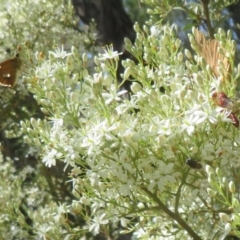
<svg viewBox="0 0 240 240"><path fill-rule="evenodd" d="M5 87L14 87L17 80L17 73L22 65L19 54L14 58L0 63L0 85Z"/></svg>

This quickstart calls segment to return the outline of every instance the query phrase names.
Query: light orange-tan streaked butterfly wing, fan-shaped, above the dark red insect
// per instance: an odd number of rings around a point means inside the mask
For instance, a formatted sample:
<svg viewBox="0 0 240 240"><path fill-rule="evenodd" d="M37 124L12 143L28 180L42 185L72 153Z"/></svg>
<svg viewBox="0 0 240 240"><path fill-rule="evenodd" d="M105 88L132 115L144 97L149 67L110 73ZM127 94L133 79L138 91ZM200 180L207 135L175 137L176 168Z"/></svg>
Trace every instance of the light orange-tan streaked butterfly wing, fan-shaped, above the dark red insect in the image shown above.
<svg viewBox="0 0 240 240"><path fill-rule="evenodd" d="M197 29L195 30L195 40L199 54L205 59L211 67L214 75L219 77L218 64L221 62L224 66L224 79L231 76L231 64L229 59L219 52L220 44L216 39L206 39L204 34ZM222 49L224 51L224 49Z"/></svg>

